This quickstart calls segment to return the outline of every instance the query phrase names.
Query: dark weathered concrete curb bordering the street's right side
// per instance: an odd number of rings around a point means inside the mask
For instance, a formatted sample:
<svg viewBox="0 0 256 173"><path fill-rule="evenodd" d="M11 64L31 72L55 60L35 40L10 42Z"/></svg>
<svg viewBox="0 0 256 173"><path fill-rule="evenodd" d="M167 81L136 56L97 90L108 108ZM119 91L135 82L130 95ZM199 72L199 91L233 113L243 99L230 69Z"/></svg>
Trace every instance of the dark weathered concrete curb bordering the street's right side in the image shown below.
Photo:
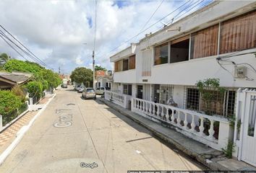
<svg viewBox="0 0 256 173"><path fill-rule="evenodd" d="M137 120L135 117L132 117L127 112L124 112L121 109L118 109L117 105L116 105L116 107L114 107L113 105L111 105L111 103L109 103L109 101L106 101L104 99L98 99L98 100L103 102L108 107L113 108L114 110L121 113L122 115L124 115L126 117L129 117L129 119L135 121L135 123L138 123L138 124L142 125L143 127L147 128L155 136L158 136L158 138L161 138L163 141L166 141L167 143L170 143L171 145L175 146L177 149L182 151L184 154L187 154L188 156L192 157L192 159L196 159L198 162L205 165L205 167L208 167L210 170L216 170L216 171L217 170L221 170L221 171L228 171L229 170L226 167L223 167L221 164L218 164L216 161L210 161L208 159L205 159L201 154L198 154L195 151L189 150L189 148L185 148L184 146L182 146L181 143L178 143L177 141L174 141L174 139L172 139L172 138L168 138L168 136L166 136L165 134L158 132L154 128L151 128L146 123L143 123L142 121Z"/></svg>

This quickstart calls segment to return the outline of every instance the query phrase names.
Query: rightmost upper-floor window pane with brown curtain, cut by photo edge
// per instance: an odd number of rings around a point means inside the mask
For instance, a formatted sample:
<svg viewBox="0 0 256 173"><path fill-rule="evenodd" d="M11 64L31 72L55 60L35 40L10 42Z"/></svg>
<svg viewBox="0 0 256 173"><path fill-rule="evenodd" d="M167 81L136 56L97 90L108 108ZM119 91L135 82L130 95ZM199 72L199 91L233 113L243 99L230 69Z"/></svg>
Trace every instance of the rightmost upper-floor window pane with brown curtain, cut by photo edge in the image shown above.
<svg viewBox="0 0 256 173"><path fill-rule="evenodd" d="M221 23L220 53L256 47L256 10Z"/></svg>

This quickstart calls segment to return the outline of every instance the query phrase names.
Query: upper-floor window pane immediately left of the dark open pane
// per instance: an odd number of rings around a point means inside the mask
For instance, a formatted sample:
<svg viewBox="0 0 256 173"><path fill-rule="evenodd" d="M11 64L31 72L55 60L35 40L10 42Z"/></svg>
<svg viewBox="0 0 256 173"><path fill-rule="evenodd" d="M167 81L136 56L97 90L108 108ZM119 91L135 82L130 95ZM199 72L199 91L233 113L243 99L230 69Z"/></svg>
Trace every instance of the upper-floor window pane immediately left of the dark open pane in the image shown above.
<svg viewBox="0 0 256 173"><path fill-rule="evenodd" d="M168 63L168 43L155 47L154 65Z"/></svg>

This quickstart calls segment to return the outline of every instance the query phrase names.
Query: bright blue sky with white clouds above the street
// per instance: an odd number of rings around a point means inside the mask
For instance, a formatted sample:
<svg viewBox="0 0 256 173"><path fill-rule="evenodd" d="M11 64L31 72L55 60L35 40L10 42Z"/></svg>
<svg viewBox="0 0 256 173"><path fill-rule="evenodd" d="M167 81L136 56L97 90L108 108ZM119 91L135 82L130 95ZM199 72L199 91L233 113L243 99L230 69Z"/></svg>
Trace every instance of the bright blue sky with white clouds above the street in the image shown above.
<svg viewBox="0 0 256 173"><path fill-rule="evenodd" d="M197 1L98 0L95 20L93 0L1 0L0 24L54 71L60 67L61 74L70 74L76 67L92 68L96 21L95 65L112 70L113 63L109 61L111 55L127 48L130 43L137 43L145 34L160 30L182 8L129 42L125 41L185 2L192 5ZM204 4L194 5L195 9ZM150 19L153 12L155 14ZM148 19L150 21L147 23ZM0 53L24 60L1 37ZM27 56L25 58L31 60Z"/></svg>

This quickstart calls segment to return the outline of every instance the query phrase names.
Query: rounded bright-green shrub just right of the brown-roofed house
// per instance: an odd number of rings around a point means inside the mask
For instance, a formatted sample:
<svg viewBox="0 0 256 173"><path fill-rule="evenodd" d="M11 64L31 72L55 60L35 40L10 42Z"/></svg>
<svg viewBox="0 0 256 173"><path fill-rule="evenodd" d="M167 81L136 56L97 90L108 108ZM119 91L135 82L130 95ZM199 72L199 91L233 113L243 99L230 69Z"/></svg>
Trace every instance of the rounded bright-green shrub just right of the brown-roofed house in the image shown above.
<svg viewBox="0 0 256 173"><path fill-rule="evenodd" d="M27 88L27 92L30 93L30 97L39 99L42 96L43 85L40 81L30 81L25 85L25 88Z"/></svg>

